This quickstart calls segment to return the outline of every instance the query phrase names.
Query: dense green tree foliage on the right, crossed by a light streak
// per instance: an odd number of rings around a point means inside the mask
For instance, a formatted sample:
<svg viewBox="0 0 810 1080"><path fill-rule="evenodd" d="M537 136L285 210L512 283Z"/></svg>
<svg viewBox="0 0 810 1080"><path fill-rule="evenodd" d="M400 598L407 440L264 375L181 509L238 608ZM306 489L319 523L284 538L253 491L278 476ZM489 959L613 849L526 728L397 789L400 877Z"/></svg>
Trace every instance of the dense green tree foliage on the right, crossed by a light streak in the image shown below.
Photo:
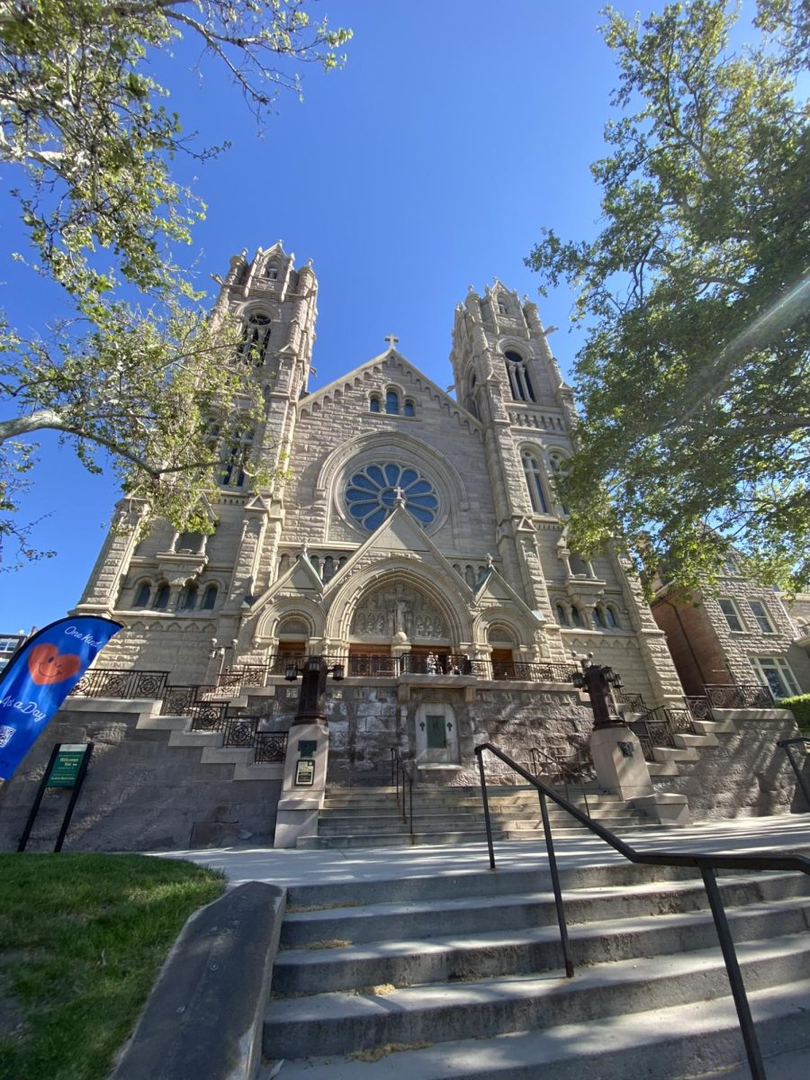
<svg viewBox="0 0 810 1080"><path fill-rule="evenodd" d="M781 45L733 54L720 0L643 25L606 17L623 114L593 166L603 229L579 244L546 233L527 260L551 284L577 284L588 325L580 445L564 482L572 542L593 551L616 529L648 580L666 558L684 588L711 584L733 544L767 580L800 588L810 141L794 84L806 14L760 3ZM594 499L599 489L609 500Z"/></svg>

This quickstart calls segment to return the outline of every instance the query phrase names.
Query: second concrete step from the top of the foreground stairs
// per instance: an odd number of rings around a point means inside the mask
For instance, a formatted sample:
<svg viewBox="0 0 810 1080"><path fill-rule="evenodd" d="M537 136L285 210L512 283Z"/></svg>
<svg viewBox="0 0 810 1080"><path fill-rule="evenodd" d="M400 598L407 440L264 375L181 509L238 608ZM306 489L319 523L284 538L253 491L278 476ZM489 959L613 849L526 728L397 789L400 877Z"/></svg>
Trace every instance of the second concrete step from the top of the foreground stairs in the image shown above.
<svg viewBox="0 0 810 1080"><path fill-rule="evenodd" d="M537 889L538 880L543 881L544 889ZM635 883L596 887L580 887L576 877L572 880L573 887L567 883L571 878L562 881L566 918L571 924L685 914L707 907L703 882L694 877L664 881L639 879ZM448 928L454 934L480 934L490 932L494 927L500 931L555 927L556 909L548 882L548 875L537 875L534 891L527 889L505 895L477 894L472 882L457 882L456 890L447 899L437 895L428 900L367 904L352 900L349 901L352 906L316 910L295 910L300 905L291 900L293 907L282 926L281 944L283 948L301 948L313 942L336 940L353 944L422 940L446 935ZM810 893L810 882L805 885L795 874L726 877L718 882L724 902L729 906L804 900ZM525 878L523 883L528 883ZM458 895L459 890L463 890L462 895ZM356 897L356 891L353 895Z"/></svg>

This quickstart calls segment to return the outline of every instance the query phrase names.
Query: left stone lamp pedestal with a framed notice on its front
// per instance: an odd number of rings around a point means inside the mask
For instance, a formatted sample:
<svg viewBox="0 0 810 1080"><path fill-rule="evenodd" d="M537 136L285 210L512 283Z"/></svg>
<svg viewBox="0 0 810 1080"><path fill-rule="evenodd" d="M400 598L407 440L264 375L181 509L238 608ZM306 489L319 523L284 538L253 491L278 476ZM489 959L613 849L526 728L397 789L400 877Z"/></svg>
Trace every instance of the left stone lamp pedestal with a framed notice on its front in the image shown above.
<svg viewBox="0 0 810 1080"><path fill-rule="evenodd" d="M318 836L318 812L326 791L328 756L329 730L325 724L293 725L287 737L274 848L294 848L298 837ZM312 783L308 782L310 777Z"/></svg>

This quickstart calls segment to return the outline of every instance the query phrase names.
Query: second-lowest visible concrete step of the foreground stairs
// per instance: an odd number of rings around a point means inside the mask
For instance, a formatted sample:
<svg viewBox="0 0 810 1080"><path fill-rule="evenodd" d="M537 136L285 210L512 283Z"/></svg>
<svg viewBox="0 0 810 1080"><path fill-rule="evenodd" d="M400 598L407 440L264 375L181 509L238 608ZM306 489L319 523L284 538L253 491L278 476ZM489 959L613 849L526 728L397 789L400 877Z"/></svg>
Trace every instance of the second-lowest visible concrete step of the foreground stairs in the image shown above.
<svg viewBox="0 0 810 1080"><path fill-rule="evenodd" d="M752 988L810 980L807 934L740 942L737 951L743 978ZM719 949L711 948L594 964L575 978L531 973L391 993L376 989L271 1000L265 1016L265 1055L295 1057L301 1048L319 1056L349 1054L369 1045L595 1022L724 997L728 976Z"/></svg>

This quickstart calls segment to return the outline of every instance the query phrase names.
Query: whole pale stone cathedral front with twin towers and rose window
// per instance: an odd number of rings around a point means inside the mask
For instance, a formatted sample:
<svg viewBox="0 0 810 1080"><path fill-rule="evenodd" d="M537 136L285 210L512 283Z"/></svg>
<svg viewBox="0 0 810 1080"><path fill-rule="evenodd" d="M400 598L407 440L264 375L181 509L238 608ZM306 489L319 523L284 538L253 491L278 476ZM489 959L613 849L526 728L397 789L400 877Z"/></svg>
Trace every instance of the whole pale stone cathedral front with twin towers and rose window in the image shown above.
<svg viewBox="0 0 810 1080"><path fill-rule="evenodd" d="M391 704L377 720L448 765L464 756L459 719L476 692L509 684L537 717L542 687L550 707L556 693L581 710L565 685L572 653L610 664L649 705L679 701L621 554L586 561L568 546L554 476L573 401L537 306L497 281L470 288L454 316L451 396L394 337L310 390L316 297L311 266L281 243L231 260L215 316L242 321L264 424L222 471L211 536L165 522L144 534L143 509L121 504L77 607L124 625L103 665L189 686L215 681L212 657L226 673L264 671L255 683L280 721L285 661L335 658L347 692L377 687ZM246 462L274 478L255 486Z"/></svg>

